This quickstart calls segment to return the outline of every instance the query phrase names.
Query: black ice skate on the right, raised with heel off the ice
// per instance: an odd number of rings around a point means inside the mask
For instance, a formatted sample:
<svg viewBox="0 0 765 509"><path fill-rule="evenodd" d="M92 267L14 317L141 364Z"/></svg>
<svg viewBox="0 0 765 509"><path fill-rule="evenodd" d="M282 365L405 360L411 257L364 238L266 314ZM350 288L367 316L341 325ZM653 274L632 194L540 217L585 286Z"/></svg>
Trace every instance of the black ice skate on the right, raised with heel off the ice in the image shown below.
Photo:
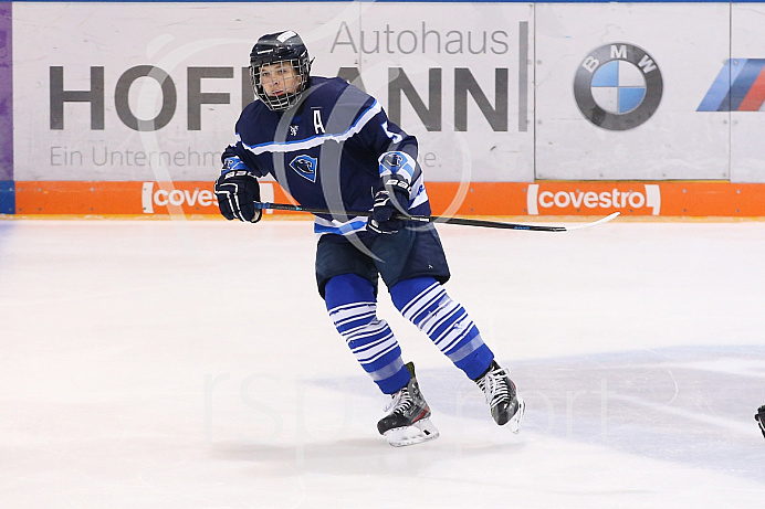
<svg viewBox="0 0 765 509"><path fill-rule="evenodd" d="M486 372L475 379L475 383L486 396L486 403L496 424L506 425L511 432L518 433L526 404L517 396L515 384L507 377L509 373L496 361L492 361Z"/></svg>

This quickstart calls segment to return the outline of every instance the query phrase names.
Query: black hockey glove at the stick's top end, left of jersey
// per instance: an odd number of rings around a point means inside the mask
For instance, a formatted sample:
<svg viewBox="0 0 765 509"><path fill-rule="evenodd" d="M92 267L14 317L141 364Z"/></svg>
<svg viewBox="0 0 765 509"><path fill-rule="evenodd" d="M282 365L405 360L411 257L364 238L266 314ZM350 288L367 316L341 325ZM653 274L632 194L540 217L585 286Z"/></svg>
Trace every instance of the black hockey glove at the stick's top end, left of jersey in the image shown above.
<svg viewBox="0 0 765 509"><path fill-rule="evenodd" d="M260 184L254 174L247 170L228 171L216 180L216 198L223 218L256 223L263 210L255 208L260 201Z"/></svg>

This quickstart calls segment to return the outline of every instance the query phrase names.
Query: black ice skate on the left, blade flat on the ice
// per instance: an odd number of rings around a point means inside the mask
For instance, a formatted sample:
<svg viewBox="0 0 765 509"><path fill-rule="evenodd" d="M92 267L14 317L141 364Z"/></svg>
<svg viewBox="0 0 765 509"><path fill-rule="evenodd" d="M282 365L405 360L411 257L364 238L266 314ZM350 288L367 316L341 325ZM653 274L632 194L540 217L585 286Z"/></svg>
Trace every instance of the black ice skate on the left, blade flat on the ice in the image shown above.
<svg viewBox="0 0 765 509"><path fill-rule="evenodd" d="M419 444L438 438L439 433L430 422L430 406L422 397L420 386L415 378L415 364L407 363L411 373L409 383L392 394L390 403L385 409L389 412L377 423L377 431L388 438L394 447Z"/></svg>

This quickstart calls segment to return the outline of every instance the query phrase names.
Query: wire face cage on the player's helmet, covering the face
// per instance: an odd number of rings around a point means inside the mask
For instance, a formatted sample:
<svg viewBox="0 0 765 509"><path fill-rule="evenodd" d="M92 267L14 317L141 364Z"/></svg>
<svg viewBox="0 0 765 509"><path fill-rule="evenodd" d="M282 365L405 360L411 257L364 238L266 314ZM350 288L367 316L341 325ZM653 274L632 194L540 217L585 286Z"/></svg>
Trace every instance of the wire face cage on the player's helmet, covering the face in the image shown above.
<svg viewBox="0 0 765 509"><path fill-rule="evenodd" d="M268 66L268 73L261 73L263 66ZM293 106L308 86L308 72L311 64L308 54L298 59L276 60L273 62L251 62L250 78L255 97L261 99L269 109L282 112ZM263 75L265 74L265 76ZM281 83L282 93L268 95L263 83Z"/></svg>

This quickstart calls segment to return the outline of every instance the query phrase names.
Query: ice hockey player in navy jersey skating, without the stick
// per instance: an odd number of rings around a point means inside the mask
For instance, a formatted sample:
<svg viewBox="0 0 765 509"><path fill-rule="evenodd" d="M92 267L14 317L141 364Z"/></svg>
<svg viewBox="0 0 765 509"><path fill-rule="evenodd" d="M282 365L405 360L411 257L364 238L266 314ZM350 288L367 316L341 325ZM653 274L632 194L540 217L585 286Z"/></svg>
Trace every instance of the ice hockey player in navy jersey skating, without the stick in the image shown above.
<svg viewBox="0 0 765 509"><path fill-rule="evenodd" d="M312 60L293 31L258 40L250 53L256 100L235 125L214 184L221 214L256 223L258 178L273 178L316 214L316 283L327 312L379 390L391 396L377 428L394 446L437 438L415 367L405 363L377 317L378 276L404 317L475 381L491 415L517 433L524 402L465 309L443 289L450 273L436 229L397 220L430 214L417 139L391 123L371 96L340 78L311 76ZM335 212L339 211L339 212ZM373 218L345 211L371 211Z"/></svg>

